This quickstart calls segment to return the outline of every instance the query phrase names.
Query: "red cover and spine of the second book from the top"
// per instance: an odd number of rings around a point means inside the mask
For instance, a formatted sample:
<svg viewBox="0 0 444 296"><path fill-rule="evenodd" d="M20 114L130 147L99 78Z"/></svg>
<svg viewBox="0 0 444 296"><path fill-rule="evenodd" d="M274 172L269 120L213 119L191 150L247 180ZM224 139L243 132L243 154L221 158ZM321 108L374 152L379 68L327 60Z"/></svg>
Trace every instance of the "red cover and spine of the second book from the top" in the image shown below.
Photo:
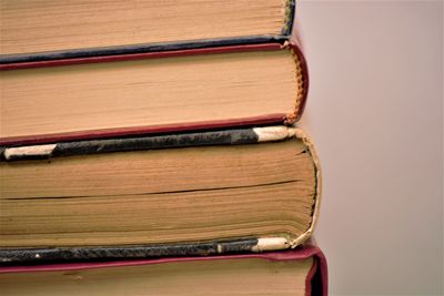
<svg viewBox="0 0 444 296"><path fill-rule="evenodd" d="M127 61L127 60L139 60L139 59L161 59L169 57L184 57L195 54L218 54L228 52L248 52L248 51L271 51L271 50L289 50L295 55L297 64L297 72L295 73L296 80L302 85L301 90L294 95L294 108L289 114L264 114L253 118L242 119L226 119L218 121L206 122L188 122L188 123L172 123L161 125L148 125L148 126L125 126L117 129L105 130L88 130L77 132L61 132L54 134L40 134L40 135L23 135L23 136L9 136L1 137L0 145L2 146L19 146L41 143L53 143L60 141L79 141L79 140L95 140L95 139L111 139L121 136L139 136L149 134L161 134L172 133L181 131L208 131L214 129L228 129L233 126L261 126L261 125L273 125L273 124L286 124L299 121L305 108L305 102L309 92L309 71L305 58L300 48L292 42L281 43L262 43L254 45L236 45L236 47L223 47L223 48L205 48L205 49L193 49L193 50L181 50L181 51L164 51L164 52L145 52L137 54L121 54L121 55L105 55L105 57L90 57L85 59L65 59L54 60L44 62L30 62L30 63L12 63L0 65L0 70L17 70L24 68L36 67L59 67L67 64L79 64L79 63L98 63L98 62L113 62L113 61Z"/></svg>

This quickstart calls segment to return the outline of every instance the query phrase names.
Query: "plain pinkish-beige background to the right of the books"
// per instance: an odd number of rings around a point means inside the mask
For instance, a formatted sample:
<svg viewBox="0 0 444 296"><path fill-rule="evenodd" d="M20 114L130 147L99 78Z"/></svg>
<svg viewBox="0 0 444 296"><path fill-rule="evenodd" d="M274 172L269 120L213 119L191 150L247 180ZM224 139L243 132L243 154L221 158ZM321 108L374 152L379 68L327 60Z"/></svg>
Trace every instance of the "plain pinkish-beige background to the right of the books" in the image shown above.
<svg viewBox="0 0 444 296"><path fill-rule="evenodd" d="M299 1L331 295L443 294L443 2Z"/></svg>

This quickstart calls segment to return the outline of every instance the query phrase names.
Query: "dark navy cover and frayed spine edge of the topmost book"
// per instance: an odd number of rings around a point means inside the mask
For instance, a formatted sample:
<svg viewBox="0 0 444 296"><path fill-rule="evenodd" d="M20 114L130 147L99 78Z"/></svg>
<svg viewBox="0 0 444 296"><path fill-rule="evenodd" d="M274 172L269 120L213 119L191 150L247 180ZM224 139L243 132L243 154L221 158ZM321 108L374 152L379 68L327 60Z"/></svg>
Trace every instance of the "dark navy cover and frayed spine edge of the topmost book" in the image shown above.
<svg viewBox="0 0 444 296"><path fill-rule="evenodd" d="M289 40L292 34L293 21L295 13L295 0L286 0L285 17L280 34L259 34L232 38L218 38L204 40L189 40L162 43L144 43L144 44L125 44L115 47L91 48L91 49L72 49L62 51L50 51L28 54L0 54L0 69L10 67L8 64L44 64L40 62L98 58L105 55L127 55L150 52L180 51L190 49L205 49L218 47L246 45L260 43L283 43ZM17 65L19 67L19 65ZM23 67L23 65L21 65Z"/></svg>

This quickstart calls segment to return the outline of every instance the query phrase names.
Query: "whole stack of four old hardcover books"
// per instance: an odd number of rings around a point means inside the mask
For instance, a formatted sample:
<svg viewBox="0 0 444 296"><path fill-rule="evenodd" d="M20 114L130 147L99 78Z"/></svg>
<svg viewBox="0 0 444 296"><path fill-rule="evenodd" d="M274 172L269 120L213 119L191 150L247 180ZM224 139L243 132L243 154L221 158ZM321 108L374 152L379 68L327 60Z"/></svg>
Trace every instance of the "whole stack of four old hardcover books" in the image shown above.
<svg viewBox="0 0 444 296"><path fill-rule="evenodd" d="M326 295L294 1L3 1L2 295Z"/></svg>

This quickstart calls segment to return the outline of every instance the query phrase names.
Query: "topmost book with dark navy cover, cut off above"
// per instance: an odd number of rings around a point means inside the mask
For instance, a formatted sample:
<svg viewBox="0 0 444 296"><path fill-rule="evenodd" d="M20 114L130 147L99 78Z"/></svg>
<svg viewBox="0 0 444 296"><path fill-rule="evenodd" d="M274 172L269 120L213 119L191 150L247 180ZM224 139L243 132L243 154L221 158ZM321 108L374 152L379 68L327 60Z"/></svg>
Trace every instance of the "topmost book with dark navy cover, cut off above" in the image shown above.
<svg viewBox="0 0 444 296"><path fill-rule="evenodd" d="M0 63L283 41L294 0L1 1Z"/></svg>

